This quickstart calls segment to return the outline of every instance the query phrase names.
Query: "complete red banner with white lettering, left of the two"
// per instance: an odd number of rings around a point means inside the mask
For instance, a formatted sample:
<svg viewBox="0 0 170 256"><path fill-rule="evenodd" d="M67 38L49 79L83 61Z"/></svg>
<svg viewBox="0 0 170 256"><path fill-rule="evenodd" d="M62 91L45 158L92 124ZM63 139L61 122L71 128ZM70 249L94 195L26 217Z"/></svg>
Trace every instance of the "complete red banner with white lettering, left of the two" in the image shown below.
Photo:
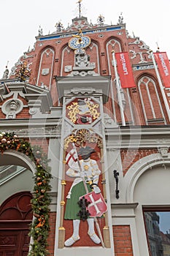
<svg viewBox="0 0 170 256"><path fill-rule="evenodd" d="M128 53L115 53L122 88L136 87Z"/></svg>

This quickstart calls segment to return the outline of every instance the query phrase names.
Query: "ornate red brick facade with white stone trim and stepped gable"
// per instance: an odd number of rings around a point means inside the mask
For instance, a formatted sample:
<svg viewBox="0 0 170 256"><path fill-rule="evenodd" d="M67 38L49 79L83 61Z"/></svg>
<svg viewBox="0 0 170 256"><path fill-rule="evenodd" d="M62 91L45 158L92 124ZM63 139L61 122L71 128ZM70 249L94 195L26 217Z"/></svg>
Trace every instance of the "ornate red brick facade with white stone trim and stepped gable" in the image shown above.
<svg viewBox="0 0 170 256"><path fill-rule="evenodd" d="M89 43L82 47L85 39ZM115 53L128 53L134 88L122 88ZM16 78L23 64L31 75ZM34 49L20 57L9 77L0 80L0 132L27 138L50 159L50 255L151 256L142 208L169 208L170 173L170 94L156 68L149 46L128 34L123 18L109 26L80 17L66 29L40 33ZM66 176L72 143L77 151L85 146L96 151L90 161L100 172L98 187L108 206L98 218L99 245L87 235L86 221L80 224L80 239L77 236L74 243L74 222L64 219L72 187L66 186L78 173ZM9 151L0 162L0 194L5 192L0 203L17 192L32 191L34 167L24 156ZM24 175L15 171L9 176L4 167L21 164L28 168ZM92 167L86 164L85 168ZM70 237L72 248L66 244Z"/></svg>

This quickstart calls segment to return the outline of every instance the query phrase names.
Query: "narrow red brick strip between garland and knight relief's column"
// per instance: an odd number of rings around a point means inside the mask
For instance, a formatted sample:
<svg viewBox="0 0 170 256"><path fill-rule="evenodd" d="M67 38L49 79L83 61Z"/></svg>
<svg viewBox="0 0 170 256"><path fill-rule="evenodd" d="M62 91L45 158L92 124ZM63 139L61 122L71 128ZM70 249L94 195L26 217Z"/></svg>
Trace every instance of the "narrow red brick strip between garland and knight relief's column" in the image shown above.
<svg viewBox="0 0 170 256"><path fill-rule="evenodd" d="M56 212L50 212L50 233L47 239L48 251L51 256L54 255L54 246L55 246L55 223L56 223Z"/></svg>

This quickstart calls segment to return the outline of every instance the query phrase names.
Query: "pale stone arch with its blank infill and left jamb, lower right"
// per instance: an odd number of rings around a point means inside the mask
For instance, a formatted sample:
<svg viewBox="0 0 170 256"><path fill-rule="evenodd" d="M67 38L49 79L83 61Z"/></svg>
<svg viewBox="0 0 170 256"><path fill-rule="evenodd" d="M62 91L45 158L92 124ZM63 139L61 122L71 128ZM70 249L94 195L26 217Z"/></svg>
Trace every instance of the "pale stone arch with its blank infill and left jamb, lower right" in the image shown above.
<svg viewBox="0 0 170 256"><path fill-rule="evenodd" d="M131 230L136 230L133 240L138 238L140 255L149 256L143 208L152 208L154 211L169 209L169 179L169 153L166 157L159 153L143 157L125 174L125 203L135 205L134 224L131 225Z"/></svg>

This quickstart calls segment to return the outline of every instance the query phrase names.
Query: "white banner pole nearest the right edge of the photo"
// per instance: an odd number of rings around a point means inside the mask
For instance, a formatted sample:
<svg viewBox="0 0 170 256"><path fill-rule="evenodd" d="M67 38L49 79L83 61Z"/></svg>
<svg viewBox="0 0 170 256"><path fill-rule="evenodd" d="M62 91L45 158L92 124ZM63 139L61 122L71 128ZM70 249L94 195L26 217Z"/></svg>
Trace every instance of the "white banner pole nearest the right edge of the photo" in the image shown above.
<svg viewBox="0 0 170 256"><path fill-rule="evenodd" d="M160 88L161 88L161 93L162 93L163 101L164 101L165 106L166 106L166 112L167 112L167 114L168 114L168 116L169 116L169 121L170 121L169 104L168 104L168 101L167 101L167 98L166 98L166 94L165 94L165 91L164 91L164 88L163 88L163 84L162 84L162 81L161 81L161 77L160 77L160 75L159 75L158 67L157 67L157 65L156 65L155 57L154 57L154 55L153 55L152 50L150 50L150 53L151 53L153 65L154 65L154 68L155 68L155 72L156 72L156 75L157 75L157 78L158 78L158 83L159 83L159 86L160 86Z"/></svg>

